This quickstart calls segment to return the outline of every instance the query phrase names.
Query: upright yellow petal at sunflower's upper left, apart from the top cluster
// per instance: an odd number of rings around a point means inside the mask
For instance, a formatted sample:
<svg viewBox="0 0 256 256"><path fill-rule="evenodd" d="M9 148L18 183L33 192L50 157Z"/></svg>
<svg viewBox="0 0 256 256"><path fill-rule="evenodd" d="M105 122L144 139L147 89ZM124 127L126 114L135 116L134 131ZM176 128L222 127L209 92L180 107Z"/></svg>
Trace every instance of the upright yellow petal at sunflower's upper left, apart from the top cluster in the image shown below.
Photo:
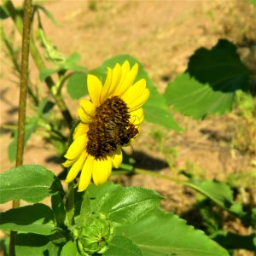
<svg viewBox="0 0 256 256"><path fill-rule="evenodd" d="M91 102L98 107L100 105L102 82L96 76L88 74L87 88L90 95Z"/></svg>

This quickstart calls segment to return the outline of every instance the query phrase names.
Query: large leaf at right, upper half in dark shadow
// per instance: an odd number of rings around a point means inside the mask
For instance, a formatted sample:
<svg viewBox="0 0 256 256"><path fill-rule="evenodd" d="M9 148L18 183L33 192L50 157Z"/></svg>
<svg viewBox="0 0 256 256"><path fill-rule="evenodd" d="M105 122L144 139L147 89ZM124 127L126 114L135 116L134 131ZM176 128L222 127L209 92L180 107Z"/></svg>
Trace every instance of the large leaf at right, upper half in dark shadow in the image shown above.
<svg viewBox="0 0 256 256"><path fill-rule="evenodd" d="M232 109L236 90L248 90L249 73L236 46L219 40L212 49L201 48L190 57L187 73L169 83L165 97L177 111L195 119Z"/></svg>

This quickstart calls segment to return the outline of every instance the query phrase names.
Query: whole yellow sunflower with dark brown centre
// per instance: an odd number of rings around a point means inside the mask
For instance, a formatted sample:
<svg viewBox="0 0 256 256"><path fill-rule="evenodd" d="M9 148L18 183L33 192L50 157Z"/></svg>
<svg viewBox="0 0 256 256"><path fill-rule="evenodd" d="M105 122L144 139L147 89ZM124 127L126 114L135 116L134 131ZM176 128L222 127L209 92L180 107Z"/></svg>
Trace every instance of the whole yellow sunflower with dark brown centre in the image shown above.
<svg viewBox="0 0 256 256"><path fill-rule="evenodd" d="M96 185L105 183L112 166L123 160L121 147L131 144L143 122L143 104L149 90L146 80L137 77L138 65L108 67L105 83L89 74L87 86L90 101L81 100L78 109L80 123L73 132L73 143L63 163L71 167L66 178L70 183L81 171L79 191L86 189L92 178Z"/></svg>

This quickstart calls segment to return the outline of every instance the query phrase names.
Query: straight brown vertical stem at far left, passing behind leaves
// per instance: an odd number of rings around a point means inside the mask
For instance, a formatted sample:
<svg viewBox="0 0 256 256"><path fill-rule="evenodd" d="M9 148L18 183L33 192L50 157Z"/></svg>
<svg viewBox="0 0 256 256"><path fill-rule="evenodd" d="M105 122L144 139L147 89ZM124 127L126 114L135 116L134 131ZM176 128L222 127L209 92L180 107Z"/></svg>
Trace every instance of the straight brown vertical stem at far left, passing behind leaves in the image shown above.
<svg viewBox="0 0 256 256"><path fill-rule="evenodd" d="M26 0L24 2L24 17L23 17L23 32L22 32L20 103L19 103L20 108L19 108L19 121L18 121L16 166L21 166L23 164L31 12L32 12L32 0ZM20 201L19 200L13 201L13 207L14 208L20 207ZM11 231L11 234L10 234L9 255L10 256L15 255L15 232L13 231Z"/></svg>

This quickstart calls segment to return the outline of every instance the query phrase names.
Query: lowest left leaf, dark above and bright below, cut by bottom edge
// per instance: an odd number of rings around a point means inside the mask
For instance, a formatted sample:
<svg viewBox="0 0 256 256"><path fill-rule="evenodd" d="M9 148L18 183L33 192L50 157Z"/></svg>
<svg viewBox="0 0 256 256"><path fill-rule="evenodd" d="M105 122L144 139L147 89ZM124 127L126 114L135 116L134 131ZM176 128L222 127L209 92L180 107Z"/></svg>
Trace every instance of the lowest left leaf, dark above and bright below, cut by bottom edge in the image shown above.
<svg viewBox="0 0 256 256"><path fill-rule="evenodd" d="M44 256L49 238L37 234L18 234L15 236L15 253L17 256ZM54 256L51 254L46 254Z"/></svg>

